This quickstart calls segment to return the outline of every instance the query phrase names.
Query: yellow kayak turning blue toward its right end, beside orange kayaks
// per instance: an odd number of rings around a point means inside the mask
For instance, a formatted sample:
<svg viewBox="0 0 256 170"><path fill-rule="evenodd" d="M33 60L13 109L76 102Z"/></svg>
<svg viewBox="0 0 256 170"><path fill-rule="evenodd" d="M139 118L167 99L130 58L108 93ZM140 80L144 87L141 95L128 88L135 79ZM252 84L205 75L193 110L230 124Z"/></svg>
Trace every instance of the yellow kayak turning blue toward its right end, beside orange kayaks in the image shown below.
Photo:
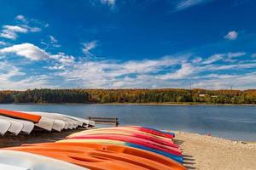
<svg viewBox="0 0 256 170"><path fill-rule="evenodd" d="M162 150L155 150L152 148L149 148L147 146L141 145L141 144L132 144L129 142L123 142L119 140L113 140L113 139L64 139L59 140L56 143L90 143L90 144L115 144L115 145L123 145L123 146L130 146L132 148L137 148L141 150L148 150L157 154L160 154L162 156L169 157L175 161L178 161L180 163L183 163L183 157L182 156L176 156L172 155L166 151Z"/></svg>

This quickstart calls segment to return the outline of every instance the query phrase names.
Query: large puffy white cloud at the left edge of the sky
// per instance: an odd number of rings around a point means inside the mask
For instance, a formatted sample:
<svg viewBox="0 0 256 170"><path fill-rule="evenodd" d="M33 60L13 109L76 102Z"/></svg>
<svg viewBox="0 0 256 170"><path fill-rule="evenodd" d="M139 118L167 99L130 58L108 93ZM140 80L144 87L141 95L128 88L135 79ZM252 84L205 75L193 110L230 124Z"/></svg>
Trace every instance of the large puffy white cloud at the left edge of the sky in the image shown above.
<svg viewBox="0 0 256 170"><path fill-rule="evenodd" d="M49 59L49 54L32 43L21 43L11 47L2 48L0 49L0 54L16 54L31 60Z"/></svg>

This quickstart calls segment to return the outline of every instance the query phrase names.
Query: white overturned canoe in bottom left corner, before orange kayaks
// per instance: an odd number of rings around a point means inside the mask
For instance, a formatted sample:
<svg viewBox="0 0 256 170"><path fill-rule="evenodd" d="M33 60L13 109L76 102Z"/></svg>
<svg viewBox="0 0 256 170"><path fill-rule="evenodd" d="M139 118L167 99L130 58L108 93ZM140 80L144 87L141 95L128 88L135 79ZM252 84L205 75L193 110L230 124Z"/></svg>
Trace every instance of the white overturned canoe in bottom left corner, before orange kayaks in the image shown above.
<svg viewBox="0 0 256 170"><path fill-rule="evenodd" d="M46 156L39 156L31 153L0 150L0 164L20 167L27 170L85 170L67 161L60 161ZM22 169L22 170L23 170ZM21 170L21 169L20 169Z"/></svg>

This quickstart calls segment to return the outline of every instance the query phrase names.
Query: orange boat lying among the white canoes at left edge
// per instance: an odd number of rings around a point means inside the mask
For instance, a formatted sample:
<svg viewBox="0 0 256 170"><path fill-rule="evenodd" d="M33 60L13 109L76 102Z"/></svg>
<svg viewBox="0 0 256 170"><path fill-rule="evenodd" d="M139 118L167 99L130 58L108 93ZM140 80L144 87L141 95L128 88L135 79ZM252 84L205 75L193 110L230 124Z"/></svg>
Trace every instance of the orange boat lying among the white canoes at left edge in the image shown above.
<svg viewBox="0 0 256 170"><path fill-rule="evenodd" d="M20 111L8 111L4 109L0 109L0 115L19 118L19 119L23 119L31 122L39 122L41 119L41 116L38 116L38 115L32 115L32 114L23 113Z"/></svg>

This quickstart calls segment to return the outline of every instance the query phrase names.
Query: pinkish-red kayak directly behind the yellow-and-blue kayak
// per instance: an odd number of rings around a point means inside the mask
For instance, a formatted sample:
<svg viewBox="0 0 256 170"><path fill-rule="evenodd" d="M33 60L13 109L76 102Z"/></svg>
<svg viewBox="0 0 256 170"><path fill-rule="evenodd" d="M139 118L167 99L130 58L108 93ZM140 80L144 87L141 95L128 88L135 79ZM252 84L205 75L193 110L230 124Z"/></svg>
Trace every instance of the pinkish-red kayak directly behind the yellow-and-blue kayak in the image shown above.
<svg viewBox="0 0 256 170"><path fill-rule="evenodd" d="M167 153L170 153L172 155L176 156L182 156L181 155L181 150L174 148L174 147L169 147L166 145L162 144L157 144L153 141L147 140L147 139L139 139L131 136L125 136L125 135L118 135L118 134L95 134L95 135L80 135L80 136L75 136L71 137L69 139L113 139L113 140L119 140L123 142L129 142L132 144L140 144L143 146L146 146L148 148L152 148L154 150L162 150L166 151ZM65 141L65 140L63 140Z"/></svg>

